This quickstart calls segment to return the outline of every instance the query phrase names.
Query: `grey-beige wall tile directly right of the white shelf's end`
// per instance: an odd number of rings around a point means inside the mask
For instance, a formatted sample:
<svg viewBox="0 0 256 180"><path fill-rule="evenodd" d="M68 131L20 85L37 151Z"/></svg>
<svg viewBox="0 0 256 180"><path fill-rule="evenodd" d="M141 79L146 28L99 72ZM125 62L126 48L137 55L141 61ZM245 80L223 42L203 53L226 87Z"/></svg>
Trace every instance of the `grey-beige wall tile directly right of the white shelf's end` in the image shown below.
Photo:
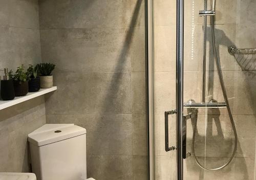
<svg viewBox="0 0 256 180"><path fill-rule="evenodd" d="M55 70L54 84L58 86L58 91L48 95L47 114L132 113L130 73L68 73Z"/></svg>

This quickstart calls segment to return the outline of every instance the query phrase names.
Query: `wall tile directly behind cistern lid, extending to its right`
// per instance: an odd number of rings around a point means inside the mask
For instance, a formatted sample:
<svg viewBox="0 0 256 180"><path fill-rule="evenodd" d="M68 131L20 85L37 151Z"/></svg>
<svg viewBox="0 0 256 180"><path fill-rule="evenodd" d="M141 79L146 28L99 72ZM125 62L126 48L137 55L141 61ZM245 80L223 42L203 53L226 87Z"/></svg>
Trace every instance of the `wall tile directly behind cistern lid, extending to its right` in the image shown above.
<svg viewBox="0 0 256 180"><path fill-rule="evenodd" d="M133 121L132 115L47 115L47 123L74 123L86 128L88 155L133 155Z"/></svg>

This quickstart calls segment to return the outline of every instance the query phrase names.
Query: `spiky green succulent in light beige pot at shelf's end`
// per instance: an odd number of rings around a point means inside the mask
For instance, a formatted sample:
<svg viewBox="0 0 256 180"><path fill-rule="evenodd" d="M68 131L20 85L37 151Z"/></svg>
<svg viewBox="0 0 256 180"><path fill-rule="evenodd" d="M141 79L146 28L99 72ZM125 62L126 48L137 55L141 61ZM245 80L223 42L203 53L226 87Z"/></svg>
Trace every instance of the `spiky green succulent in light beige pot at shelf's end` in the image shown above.
<svg viewBox="0 0 256 180"><path fill-rule="evenodd" d="M38 72L40 73L41 88L50 88L53 86L52 71L55 68L55 64L40 63L36 65Z"/></svg>

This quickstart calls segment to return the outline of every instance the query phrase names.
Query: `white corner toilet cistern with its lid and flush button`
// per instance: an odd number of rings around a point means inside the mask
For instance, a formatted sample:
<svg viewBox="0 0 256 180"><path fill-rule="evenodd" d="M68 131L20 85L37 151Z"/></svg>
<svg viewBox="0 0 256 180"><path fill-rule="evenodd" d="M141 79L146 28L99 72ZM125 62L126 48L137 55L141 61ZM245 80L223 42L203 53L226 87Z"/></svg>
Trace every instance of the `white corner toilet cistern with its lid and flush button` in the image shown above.
<svg viewBox="0 0 256 180"><path fill-rule="evenodd" d="M86 129L74 124L45 124L31 132L28 141L37 180L87 179Z"/></svg>

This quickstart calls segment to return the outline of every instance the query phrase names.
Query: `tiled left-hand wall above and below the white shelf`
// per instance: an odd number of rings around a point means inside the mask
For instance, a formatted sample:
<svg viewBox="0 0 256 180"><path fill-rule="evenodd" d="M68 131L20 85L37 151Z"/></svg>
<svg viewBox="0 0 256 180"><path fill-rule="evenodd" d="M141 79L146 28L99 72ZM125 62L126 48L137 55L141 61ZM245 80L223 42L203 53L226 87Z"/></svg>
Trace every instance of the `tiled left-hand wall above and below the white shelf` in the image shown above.
<svg viewBox="0 0 256 180"><path fill-rule="evenodd" d="M41 62L37 0L0 1L0 25L1 69ZM45 114L44 96L0 111L1 172L31 171L27 137L46 123Z"/></svg>

